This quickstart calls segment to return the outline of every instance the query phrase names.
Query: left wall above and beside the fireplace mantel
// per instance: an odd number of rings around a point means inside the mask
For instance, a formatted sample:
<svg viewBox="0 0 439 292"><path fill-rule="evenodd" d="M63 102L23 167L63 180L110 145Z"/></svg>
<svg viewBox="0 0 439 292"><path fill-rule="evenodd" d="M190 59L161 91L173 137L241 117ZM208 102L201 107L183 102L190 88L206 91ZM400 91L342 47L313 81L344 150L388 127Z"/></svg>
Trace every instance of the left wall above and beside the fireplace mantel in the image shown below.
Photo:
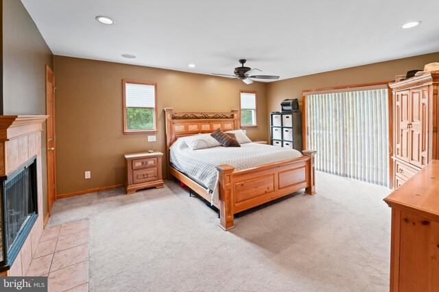
<svg viewBox="0 0 439 292"><path fill-rule="evenodd" d="M45 65L53 68L53 55L18 0L3 0L3 114L44 115ZM42 147L46 148L45 132ZM42 152L43 213L47 214L47 163Z"/></svg>

